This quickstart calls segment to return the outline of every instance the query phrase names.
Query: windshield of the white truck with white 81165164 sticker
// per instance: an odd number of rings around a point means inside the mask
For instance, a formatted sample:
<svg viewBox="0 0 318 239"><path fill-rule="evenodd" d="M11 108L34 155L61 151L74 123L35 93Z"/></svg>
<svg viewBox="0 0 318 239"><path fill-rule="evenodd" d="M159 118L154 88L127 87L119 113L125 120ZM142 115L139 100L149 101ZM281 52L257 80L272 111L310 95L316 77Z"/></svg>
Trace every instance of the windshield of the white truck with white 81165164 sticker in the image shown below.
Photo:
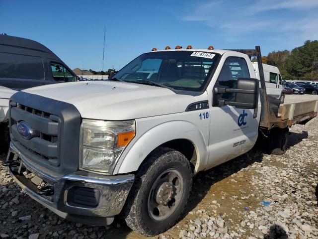
<svg viewBox="0 0 318 239"><path fill-rule="evenodd" d="M202 91L219 54L195 51L150 52L140 55L113 78L152 81L175 90Z"/></svg>

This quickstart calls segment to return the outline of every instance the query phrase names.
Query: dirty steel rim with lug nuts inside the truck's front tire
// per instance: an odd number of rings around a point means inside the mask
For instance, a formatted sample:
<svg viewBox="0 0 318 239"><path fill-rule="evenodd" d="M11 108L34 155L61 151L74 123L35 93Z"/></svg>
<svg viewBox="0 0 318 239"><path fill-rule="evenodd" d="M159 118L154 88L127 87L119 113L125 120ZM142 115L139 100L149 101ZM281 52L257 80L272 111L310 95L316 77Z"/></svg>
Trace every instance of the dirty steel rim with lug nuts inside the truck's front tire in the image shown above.
<svg viewBox="0 0 318 239"><path fill-rule="evenodd" d="M175 169L159 175L148 197L148 213L156 221L167 219L180 204L183 195L183 177Z"/></svg>

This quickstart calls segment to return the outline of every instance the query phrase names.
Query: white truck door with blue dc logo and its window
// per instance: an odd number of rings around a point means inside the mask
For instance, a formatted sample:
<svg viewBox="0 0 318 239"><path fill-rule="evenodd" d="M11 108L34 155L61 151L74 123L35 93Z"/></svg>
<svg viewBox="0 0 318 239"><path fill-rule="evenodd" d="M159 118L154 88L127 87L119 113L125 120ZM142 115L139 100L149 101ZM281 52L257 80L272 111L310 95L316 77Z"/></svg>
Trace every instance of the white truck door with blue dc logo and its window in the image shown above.
<svg viewBox="0 0 318 239"><path fill-rule="evenodd" d="M251 74L253 74L253 69L248 68L246 59L230 56L223 63L214 88L236 88L239 78L250 78ZM252 76L255 77L254 74ZM216 97L213 96L213 89L212 97ZM217 97L229 101L235 97L235 93L218 94ZM254 118L254 110L239 109L234 106L210 108L207 168L235 158L253 147L258 135L260 104L258 112L258 117Z"/></svg>

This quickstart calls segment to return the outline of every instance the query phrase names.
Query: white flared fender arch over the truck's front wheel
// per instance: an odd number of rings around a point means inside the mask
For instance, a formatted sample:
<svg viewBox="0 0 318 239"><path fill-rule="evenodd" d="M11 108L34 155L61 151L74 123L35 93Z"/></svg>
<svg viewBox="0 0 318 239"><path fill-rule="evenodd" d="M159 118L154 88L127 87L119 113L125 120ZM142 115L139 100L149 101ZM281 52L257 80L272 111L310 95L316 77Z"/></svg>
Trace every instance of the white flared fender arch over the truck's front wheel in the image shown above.
<svg viewBox="0 0 318 239"><path fill-rule="evenodd" d="M138 137L138 134L136 136ZM188 139L191 141L197 154L194 173L205 169L209 155L207 143L202 133L191 122L175 120L156 125L139 136L129 149L124 150L114 174L137 171L141 163L155 148L173 139Z"/></svg>

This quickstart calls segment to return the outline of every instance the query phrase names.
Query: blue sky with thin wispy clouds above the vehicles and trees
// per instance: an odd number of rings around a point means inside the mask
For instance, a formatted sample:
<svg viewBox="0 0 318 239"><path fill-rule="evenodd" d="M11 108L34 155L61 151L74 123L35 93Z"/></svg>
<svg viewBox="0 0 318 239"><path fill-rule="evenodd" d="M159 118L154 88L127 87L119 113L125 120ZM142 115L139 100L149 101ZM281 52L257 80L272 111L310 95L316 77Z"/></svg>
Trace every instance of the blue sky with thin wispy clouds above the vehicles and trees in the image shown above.
<svg viewBox="0 0 318 239"><path fill-rule="evenodd" d="M318 39L318 0L0 0L0 33L36 40L72 69L120 69L153 47L251 48Z"/></svg>

